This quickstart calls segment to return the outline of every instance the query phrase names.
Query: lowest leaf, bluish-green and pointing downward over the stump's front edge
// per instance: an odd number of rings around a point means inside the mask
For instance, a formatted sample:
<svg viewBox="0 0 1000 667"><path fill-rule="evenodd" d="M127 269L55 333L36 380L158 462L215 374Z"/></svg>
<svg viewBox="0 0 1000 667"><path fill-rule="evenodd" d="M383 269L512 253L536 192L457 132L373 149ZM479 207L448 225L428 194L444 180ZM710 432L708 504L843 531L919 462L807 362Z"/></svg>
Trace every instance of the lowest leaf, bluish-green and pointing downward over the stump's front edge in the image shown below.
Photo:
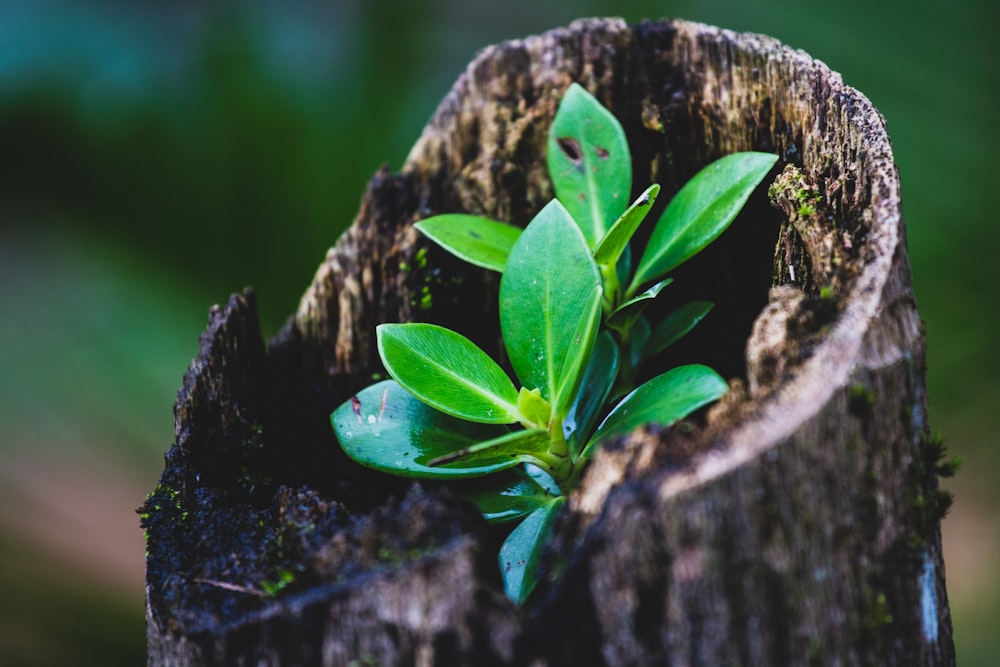
<svg viewBox="0 0 1000 667"><path fill-rule="evenodd" d="M522 605L534 590L538 560L552 534L552 526L565 498L553 498L529 514L500 547L500 574L507 597Z"/></svg>

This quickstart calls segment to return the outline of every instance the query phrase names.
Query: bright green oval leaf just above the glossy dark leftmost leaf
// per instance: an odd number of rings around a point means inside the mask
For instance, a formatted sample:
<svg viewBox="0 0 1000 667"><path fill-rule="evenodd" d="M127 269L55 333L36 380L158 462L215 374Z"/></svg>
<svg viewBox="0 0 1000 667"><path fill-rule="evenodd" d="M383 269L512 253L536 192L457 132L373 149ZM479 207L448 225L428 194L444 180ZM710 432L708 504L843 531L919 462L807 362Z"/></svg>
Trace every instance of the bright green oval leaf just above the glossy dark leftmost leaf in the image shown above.
<svg viewBox="0 0 1000 667"><path fill-rule="evenodd" d="M484 424L519 421L517 389L495 361L465 336L435 324L381 324L386 370L428 405Z"/></svg>

